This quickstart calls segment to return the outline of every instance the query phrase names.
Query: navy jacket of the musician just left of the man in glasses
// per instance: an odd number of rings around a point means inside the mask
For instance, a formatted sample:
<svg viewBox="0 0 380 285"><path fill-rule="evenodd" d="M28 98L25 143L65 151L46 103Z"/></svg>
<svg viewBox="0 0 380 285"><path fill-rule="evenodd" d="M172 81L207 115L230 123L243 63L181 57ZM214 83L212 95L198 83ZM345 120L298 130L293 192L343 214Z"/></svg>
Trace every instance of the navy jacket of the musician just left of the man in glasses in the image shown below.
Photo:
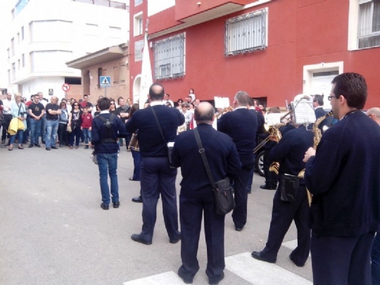
<svg viewBox="0 0 380 285"><path fill-rule="evenodd" d="M314 134L300 126L297 129L291 129L284 134L277 146L274 146L268 156L272 162L277 161L280 164L279 173L298 175L305 168L303 158L305 152L313 144ZM300 179L300 185L304 185L303 179Z"/></svg>

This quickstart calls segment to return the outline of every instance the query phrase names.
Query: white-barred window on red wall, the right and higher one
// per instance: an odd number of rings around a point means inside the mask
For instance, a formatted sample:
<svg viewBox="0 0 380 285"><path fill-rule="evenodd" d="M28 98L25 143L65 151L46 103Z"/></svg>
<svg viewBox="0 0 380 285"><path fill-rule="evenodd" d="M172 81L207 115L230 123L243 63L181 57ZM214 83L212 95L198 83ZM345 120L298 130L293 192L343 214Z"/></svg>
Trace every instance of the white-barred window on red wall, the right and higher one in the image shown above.
<svg viewBox="0 0 380 285"><path fill-rule="evenodd" d="M224 56L267 48L267 9L228 19L225 24Z"/></svg>

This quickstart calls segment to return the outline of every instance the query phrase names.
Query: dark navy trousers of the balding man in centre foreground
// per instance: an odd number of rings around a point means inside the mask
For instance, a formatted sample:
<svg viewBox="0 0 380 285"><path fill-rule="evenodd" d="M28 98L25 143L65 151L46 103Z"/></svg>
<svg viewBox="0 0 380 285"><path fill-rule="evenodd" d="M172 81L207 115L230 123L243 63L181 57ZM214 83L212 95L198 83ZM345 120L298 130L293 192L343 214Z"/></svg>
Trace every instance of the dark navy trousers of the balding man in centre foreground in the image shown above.
<svg viewBox="0 0 380 285"><path fill-rule="evenodd" d="M206 274L210 281L220 279L224 270L224 215L217 215L213 190L200 190L179 195L181 222L181 258L179 271L193 278L199 270L197 252L204 213L205 242L207 247Z"/></svg>

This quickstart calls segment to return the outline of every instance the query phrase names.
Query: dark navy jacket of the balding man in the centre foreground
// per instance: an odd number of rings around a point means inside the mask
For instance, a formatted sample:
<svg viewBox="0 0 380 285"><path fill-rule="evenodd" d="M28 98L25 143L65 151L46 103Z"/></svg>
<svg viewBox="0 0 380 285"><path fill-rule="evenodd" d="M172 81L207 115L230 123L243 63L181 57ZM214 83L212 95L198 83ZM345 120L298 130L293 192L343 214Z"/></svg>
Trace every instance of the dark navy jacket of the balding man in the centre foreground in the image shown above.
<svg viewBox="0 0 380 285"><path fill-rule="evenodd" d="M236 146L232 139L218 132L211 125L199 124L197 126L199 137L205 148L205 154L210 164L215 181L225 177L234 177L238 174L241 163ZM182 193L185 191L202 191L211 189L211 185L205 172L205 167L198 152L198 145L194 130L182 132L175 139L172 151L172 163L181 167Z"/></svg>

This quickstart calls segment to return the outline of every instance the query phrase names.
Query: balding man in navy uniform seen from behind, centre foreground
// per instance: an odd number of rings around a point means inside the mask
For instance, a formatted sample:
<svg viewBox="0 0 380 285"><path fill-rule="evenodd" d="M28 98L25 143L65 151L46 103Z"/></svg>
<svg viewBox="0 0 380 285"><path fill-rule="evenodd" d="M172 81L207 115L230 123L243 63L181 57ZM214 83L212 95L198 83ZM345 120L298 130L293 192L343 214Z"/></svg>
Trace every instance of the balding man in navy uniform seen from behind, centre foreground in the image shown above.
<svg viewBox="0 0 380 285"><path fill-rule="evenodd" d="M241 167L239 155L232 139L213 129L213 106L208 102L199 103L194 116L215 181L236 175ZM194 130L190 130L178 135L172 153L173 164L181 166L183 177L179 194L182 266L178 274L185 283L191 283L199 270L196 255L204 213L206 274L210 284L217 284L224 277L224 215L217 215L215 211L213 189L198 149Z"/></svg>

